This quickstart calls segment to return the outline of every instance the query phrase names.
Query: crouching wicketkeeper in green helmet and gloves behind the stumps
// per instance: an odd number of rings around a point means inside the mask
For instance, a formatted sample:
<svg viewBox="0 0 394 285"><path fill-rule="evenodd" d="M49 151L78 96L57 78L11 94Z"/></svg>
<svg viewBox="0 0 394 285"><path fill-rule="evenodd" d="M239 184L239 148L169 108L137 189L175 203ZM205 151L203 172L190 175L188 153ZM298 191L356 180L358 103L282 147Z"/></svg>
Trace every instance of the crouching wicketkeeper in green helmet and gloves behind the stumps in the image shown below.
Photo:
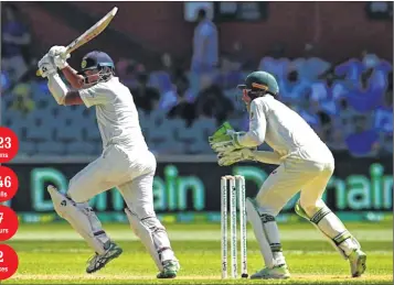
<svg viewBox="0 0 394 285"><path fill-rule="evenodd" d="M249 113L249 130L246 133L227 130L225 134L222 130L222 134L210 138L219 164L249 160L279 165L257 196L246 200L247 219L265 262L265 267L251 278L290 277L275 218L299 191L296 212L310 221L344 260L349 260L352 277L361 276L366 267L365 253L322 200L334 169L330 150L298 113L277 100L279 88L273 75L254 72L238 88ZM256 151L264 142L274 152Z"/></svg>

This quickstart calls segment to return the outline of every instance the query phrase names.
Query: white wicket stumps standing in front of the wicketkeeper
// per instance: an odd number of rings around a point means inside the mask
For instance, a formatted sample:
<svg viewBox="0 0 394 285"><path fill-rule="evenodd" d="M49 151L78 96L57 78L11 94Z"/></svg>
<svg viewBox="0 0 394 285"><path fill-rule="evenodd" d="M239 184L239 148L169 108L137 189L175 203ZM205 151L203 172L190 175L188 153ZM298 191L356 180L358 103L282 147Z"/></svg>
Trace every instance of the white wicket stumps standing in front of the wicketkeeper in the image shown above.
<svg viewBox="0 0 394 285"><path fill-rule="evenodd" d="M241 276L247 278L246 257L246 208L245 208L245 177L241 175L226 175L221 178L221 231L222 231L222 278L227 278L227 193L230 188L230 251L231 251L231 274L232 278L237 278L237 234L236 234L236 200L238 194L239 209L239 235L241 235Z"/></svg>

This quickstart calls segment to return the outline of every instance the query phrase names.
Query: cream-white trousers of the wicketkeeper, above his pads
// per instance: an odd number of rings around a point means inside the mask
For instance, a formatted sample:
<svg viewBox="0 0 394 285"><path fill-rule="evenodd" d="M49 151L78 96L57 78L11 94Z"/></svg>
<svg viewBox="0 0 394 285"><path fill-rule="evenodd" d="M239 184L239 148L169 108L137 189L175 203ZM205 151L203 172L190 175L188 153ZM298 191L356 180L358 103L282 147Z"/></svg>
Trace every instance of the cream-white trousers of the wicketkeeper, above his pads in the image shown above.
<svg viewBox="0 0 394 285"><path fill-rule="evenodd" d="M324 206L321 199L332 176L334 161L313 162L286 158L264 182L256 200L260 210L277 216L298 191L300 205L309 217Z"/></svg>

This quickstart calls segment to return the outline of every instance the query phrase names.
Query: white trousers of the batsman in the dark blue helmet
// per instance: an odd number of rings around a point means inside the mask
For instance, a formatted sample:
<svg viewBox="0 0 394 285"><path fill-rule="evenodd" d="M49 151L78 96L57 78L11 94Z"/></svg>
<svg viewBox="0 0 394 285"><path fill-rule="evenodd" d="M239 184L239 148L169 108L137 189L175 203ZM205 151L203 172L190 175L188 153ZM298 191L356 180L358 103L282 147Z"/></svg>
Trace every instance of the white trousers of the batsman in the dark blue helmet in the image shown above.
<svg viewBox="0 0 394 285"><path fill-rule="evenodd" d="M138 217L153 216L155 172L156 157L151 152L129 153L110 145L70 180L67 195L76 202L86 202L117 187L127 207Z"/></svg>

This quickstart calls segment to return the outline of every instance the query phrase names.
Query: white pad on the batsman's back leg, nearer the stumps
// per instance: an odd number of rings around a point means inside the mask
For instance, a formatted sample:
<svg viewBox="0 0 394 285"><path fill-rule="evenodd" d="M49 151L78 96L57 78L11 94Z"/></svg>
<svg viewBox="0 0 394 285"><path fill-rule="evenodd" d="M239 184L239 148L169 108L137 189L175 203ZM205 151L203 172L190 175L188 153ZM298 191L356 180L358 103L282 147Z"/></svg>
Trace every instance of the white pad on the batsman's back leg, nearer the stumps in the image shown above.
<svg viewBox="0 0 394 285"><path fill-rule="evenodd" d="M157 217L139 219L128 208L125 209L130 227L149 251L159 271L163 271L162 262L175 260L166 228Z"/></svg>

